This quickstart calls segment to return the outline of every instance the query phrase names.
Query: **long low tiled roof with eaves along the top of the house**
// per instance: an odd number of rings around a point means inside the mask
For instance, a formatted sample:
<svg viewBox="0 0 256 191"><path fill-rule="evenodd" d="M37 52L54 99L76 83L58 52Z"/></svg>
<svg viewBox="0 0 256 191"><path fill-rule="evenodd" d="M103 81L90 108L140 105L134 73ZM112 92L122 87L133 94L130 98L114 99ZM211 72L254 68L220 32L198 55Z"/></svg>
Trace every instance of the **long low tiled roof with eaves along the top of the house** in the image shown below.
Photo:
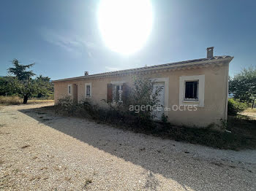
<svg viewBox="0 0 256 191"><path fill-rule="evenodd" d="M159 65L154 65L154 66L144 66L140 68L135 68L135 69L124 69L124 70L118 70L118 71L108 71L104 73L99 73L99 74L91 74L87 76L80 76L80 77L71 77L71 78L65 78L65 79L57 79L53 80L53 82L61 82L61 81L68 81L68 80L77 80L77 79L86 79L86 78L92 78L92 77L108 77L112 76L115 74L124 74L124 73L130 73L130 72L135 72L135 71L146 71L146 70L154 70L154 69L162 69L162 68L168 68L177 66L177 67L182 67L185 66L186 64L203 64L203 63L214 63L215 61L231 61L233 59L232 56L229 55L222 55L222 56L214 56L213 58L200 58L200 59L195 59L195 60L189 60L189 61L180 61L180 62L175 62L175 63L164 63L164 64L159 64Z"/></svg>

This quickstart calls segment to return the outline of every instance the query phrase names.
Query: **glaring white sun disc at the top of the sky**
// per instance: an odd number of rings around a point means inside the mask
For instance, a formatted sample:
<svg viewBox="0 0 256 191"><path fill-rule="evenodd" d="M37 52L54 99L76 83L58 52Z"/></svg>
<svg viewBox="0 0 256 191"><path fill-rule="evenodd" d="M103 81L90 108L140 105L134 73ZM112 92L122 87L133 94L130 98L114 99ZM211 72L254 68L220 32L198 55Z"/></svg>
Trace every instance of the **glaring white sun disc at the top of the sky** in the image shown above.
<svg viewBox="0 0 256 191"><path fill-rule="evenodd" d="M124 55L140 50L151 33L150 0L102 0L97 16L106 46Z"/></svg>

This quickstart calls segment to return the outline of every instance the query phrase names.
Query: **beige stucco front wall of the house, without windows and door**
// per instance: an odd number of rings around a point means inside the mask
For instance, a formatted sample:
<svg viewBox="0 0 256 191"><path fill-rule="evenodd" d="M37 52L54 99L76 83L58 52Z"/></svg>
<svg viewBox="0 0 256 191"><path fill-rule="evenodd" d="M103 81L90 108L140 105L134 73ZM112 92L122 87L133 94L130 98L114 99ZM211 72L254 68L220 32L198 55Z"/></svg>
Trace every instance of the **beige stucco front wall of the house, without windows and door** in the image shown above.
<svg viewBox="0 0 256 191"><path fill-rule="evenodd" d="M197 111L169 111L166 112L168 120L176 125L196 125L205 127L212 122L220 124L220 119L225 120L227 106L227 77L228 63L222 66L209 66L202 69L184 69L176 71L162 71L148 74L150 78L169 78L168 106L179 105L179 77L205 75L205 100L203 107ZM85 96L85 83L91 83L91 99L94 104L103 104L102 99L107 99L107 84L111 81L126 81L132 85L132 77L108 77L103 79L82 79L78 81L54 82L55 103L58 99L67 96L67 85L78 85L78 101Z"/></svg>

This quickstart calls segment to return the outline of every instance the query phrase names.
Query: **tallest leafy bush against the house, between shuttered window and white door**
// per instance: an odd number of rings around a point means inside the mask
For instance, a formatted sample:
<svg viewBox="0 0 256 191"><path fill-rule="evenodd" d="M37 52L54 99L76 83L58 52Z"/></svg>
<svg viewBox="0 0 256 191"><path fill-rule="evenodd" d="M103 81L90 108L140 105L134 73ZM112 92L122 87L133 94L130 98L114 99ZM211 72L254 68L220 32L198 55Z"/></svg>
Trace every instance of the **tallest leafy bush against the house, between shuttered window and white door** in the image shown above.
<svg viewBox="0 0 256 191"><path fill-rule="evenodd" d="M152 129L152 122L156 117L159 106L159 93L162 87L154 88L154 81L143 76L134 76L132 87L127 87L122 102L108 102L110 118L125 122L126 124L137 124L140 128ZM144 109L140 109L144 106ZM145 108L147 106L147 108ZM139 110L138 110L139 109Z"/></svg>

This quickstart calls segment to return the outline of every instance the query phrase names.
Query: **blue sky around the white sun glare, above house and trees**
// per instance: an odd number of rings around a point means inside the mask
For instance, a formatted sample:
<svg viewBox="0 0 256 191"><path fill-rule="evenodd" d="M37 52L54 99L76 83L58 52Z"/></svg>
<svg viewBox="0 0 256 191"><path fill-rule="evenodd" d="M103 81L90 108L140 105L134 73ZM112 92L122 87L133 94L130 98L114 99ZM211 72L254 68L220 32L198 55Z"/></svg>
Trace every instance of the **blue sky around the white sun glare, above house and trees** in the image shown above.
<svg viewBox="0 0 256 191"><path fill-rule="evenodd" d="M1 1L0 76L10 61L36 63L51 79L232 55L230 75L256 66L256 1L152 0L153 27L132 55L105 46L97 25L99 1Z"/></svg>

